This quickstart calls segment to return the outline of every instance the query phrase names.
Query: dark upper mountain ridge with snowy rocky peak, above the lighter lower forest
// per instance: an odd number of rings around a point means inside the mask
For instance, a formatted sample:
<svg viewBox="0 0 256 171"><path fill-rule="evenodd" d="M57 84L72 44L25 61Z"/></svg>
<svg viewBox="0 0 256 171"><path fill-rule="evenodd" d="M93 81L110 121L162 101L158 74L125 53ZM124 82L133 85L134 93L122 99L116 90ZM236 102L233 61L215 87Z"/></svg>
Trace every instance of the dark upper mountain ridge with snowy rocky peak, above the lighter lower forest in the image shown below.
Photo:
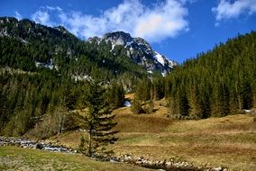
<svg viewBox="0 0 256 171"><path fill-rule="evenodd" d="M2 67L28 71L48 68L74 79L87 79L95 70L105 79L125 73L140 77L159 72L165 76L177 65L151 49L142 38L132 38L123 31L85 41L62 26L51 28L28 19L18 21L13 17L1 17L0 38ZM16 51L17 55L6 51Z"/></svg>

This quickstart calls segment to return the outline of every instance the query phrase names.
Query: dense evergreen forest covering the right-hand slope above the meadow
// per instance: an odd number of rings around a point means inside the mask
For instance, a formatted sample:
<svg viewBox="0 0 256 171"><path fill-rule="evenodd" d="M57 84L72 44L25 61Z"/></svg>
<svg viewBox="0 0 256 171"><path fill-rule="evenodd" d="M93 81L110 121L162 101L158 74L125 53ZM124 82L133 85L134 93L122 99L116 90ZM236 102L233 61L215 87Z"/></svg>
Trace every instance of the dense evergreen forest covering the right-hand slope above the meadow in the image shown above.
<svg viewBox="0 0 256 171"><path fill-rule="evenodd" d="M255 42L255 31L228 40L188 59L159 81L143 81L137 98L165 96L169 116L175 118L222 117L251 109L256 106Z"/></svg>

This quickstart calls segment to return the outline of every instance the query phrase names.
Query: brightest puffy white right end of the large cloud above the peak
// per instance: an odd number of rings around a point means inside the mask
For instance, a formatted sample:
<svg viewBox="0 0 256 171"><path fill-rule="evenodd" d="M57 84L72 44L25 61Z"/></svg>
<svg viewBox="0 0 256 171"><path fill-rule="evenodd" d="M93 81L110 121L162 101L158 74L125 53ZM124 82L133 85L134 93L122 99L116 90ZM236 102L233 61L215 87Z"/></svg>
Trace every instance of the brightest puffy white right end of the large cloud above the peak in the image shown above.
<svg viewBox="0 0 256 171"><path fill-rule="evenodd" d="M146 11L138 19L134 33L148 40L174 37L179 31L187 29L186 15L187 10L178 1L167 1L152 11Z"/></svg>

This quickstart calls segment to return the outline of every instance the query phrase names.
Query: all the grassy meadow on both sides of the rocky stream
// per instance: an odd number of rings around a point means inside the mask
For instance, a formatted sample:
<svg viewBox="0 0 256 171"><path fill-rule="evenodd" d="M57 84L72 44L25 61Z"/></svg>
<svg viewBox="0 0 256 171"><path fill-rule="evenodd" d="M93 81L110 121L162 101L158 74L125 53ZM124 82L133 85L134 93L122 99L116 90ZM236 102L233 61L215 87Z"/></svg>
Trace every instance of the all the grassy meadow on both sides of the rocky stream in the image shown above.
<svg viewBox="0 0 256 171"><path fill-rule="evenodd" d="M165 101L151 114L133 114L130 107L114 110L119 140L110 147L115 156L129 154L150 160L186 161L193 166L228 170L256 169L256 121L251 114L205 120L173 120ZM74 130L47 139L78 148L86 131ZM0 147L0 170L146 170L124 163L99 162L80 154Z"/></svg>

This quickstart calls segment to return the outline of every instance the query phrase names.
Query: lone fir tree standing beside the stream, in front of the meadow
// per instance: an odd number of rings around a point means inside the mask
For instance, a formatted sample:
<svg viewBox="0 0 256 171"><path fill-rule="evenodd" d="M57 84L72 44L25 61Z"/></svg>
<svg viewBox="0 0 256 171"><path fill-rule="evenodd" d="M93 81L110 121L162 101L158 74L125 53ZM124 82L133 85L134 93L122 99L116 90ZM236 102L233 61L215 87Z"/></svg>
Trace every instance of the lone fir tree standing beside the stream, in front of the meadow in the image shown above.
<svg viewBox="0 0 256 171"><path fill-rule="evenodd" d="M118 139L113 130L117 124L114 122L114 116L105 103L105 88L102 82L92 80L86 89L84 101L87 105L87 112L84 117L87 129L87 139L80 139L80 150L89 157L95 157L110 154L112 151L107 150L106 145L114 144Z"/></svg>

